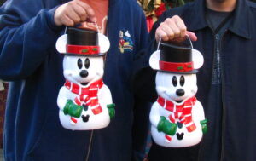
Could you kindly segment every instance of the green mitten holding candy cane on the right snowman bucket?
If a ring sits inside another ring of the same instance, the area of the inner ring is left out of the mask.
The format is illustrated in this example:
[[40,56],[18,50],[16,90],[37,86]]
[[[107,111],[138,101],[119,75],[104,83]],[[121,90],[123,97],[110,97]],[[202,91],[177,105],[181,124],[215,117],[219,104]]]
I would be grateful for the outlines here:
[[159,132],[164,132],[167,135],[175,135],[177,131],[177,124],[173,124],[169,122],[166,117],[161,116],[160,122],[157,125],[157,129]]

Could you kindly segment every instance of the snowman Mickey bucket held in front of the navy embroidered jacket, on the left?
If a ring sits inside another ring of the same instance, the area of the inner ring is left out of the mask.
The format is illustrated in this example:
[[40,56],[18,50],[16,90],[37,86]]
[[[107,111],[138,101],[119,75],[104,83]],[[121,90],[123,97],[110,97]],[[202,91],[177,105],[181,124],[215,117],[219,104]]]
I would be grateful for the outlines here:
[[67,33],[58,38],[56,49],[64,55],[66,83],[57,104],[64,128],[102,129],[114,117],[111,92],[102,82],[103,56],[109,46],[108,37],[89,29],[67,27]]

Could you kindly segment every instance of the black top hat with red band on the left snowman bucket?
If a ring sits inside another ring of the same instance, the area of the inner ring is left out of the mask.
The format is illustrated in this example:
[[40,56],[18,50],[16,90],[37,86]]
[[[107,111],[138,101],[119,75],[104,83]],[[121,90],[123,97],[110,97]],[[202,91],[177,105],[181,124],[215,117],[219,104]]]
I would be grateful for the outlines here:
[[98,32],[90,29],[67,27],[67,55],[101,56]]

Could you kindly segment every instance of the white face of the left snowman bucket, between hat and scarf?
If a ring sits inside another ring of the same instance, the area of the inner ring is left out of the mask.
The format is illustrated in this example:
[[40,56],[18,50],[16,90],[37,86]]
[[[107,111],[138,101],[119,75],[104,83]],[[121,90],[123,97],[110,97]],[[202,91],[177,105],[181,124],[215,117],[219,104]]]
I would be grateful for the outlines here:
[[90,85],[102,78],[104,73],[102,56],[73,56],[66,55],[63,60],[64,77],[82,86]]

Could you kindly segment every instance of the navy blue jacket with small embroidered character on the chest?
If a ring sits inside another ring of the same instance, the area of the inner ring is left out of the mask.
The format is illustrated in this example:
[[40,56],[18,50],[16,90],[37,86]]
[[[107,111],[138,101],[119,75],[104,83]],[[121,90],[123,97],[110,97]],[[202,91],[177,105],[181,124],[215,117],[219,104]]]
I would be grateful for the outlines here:
[[[65,80],[55,42],[64,27],[54,25],[60,0],[9,0],[0,8],[0,78],[9,83],[4,125],[6,161],[85,160],[90,131],[61,127],[56,99]],[[120,53],[119,31],[128,31],[132,51]],[[104,74],[116,104],[108,128],[95,130],[89,160],[131,160],[132,76],[148,37],[143,11],[133,0],[109,0]]]

